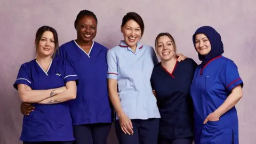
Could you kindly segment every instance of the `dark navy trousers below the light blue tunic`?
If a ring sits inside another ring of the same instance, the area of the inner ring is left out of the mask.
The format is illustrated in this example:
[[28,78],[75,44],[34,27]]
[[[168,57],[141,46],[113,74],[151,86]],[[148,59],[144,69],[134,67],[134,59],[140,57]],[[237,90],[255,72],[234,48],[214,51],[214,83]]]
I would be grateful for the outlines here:
[[115,130],[119,144],[157,144],[159,118],[131,119],[133,135],[125,134],[119,120],[115,120]]

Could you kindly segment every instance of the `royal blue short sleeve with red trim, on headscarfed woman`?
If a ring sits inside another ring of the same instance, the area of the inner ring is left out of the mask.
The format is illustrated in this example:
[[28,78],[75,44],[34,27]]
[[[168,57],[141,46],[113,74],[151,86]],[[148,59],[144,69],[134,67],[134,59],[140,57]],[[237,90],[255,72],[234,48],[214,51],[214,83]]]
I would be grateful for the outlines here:
[[239,76],[238,68],[233,61],[228,61],[223,66],[222,73],[220,74],[221,81],[228,91],[232,91],[234,87],[241,84],[243,87],[242,78]]

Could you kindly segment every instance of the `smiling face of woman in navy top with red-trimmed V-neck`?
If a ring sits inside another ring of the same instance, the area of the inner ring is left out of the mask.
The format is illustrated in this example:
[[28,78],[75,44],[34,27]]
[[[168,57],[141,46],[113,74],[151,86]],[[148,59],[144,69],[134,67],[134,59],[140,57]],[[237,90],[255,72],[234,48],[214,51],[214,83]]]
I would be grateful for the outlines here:
[[176,47],[169,36],[160,36],[156,41],[156,52],[161,58],[161,61],[167,61],[174,58]]

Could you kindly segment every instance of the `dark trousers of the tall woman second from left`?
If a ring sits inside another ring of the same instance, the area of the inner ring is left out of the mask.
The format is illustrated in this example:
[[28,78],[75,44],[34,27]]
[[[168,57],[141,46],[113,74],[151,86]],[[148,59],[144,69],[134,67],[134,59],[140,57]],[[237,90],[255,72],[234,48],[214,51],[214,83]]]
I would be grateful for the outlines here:
[[106,144],[111,123],[74,125],[74,144]]

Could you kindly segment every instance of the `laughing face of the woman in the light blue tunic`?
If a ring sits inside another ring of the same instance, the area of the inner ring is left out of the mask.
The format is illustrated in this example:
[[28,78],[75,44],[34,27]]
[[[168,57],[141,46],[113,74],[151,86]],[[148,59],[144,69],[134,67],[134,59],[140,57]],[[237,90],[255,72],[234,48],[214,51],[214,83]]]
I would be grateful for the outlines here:
[[131,48],[136,47],[141,38],[140,25],[131,19],[121,26],[121,31],[124,35],[124,42]]

